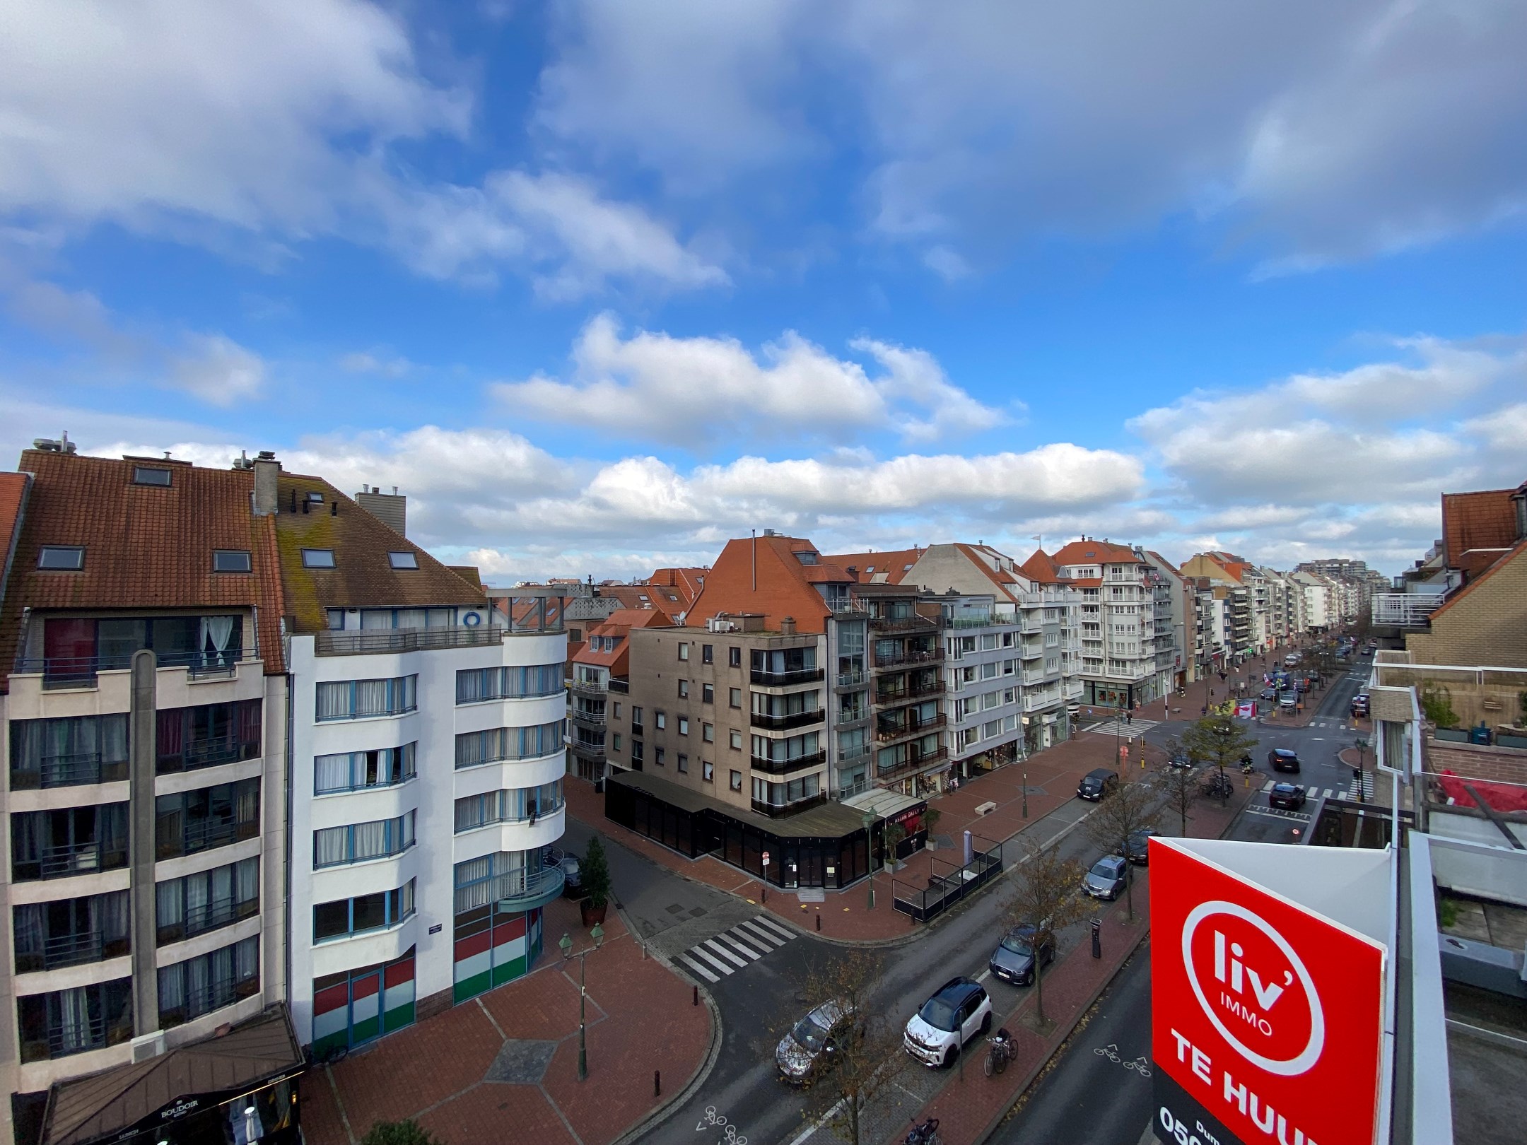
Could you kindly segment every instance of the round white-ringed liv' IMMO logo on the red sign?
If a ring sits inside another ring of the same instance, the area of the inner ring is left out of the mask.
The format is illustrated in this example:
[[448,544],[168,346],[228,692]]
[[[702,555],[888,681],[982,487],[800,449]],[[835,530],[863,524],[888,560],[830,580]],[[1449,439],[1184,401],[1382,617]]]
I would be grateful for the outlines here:
[[1182,927],[1182,962],[1203,1014],[1267,1073],[1309,1070],[1325,1018],[1309,969],[1266,919],[1235,902],[1200,902]]

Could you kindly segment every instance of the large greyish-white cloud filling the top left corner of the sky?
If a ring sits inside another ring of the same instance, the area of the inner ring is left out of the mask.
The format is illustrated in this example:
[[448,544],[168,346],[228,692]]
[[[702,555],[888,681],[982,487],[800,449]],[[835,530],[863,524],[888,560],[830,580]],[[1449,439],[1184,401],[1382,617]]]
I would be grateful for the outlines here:
[[0,35],[0,217],[111,221],[267,266],[333,235],[437,278],[533,272],[554,296],[725,282],[585,180],[405,174],[397,144],[463,139],[472,110],[423,75],[395,14],[359,0],[26,5]]

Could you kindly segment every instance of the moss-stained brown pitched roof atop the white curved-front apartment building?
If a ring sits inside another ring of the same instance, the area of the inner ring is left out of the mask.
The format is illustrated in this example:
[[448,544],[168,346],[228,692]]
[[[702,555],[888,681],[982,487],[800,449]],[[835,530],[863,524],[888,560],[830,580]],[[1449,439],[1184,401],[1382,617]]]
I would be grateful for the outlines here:
[[[281,473],[276,482],[276,543],[293,632],[328,627],[330,608],[486,606],[483,589],[394,533],[322,478]],[[321,501],[310,504],[308,495]],[[304,507],[308,511],[302,511]],[[337,511],[336,507],[337,505]],[[307,568],[304,548],[334,553],[334,568]],[[412,553],[418,568],[397,569],[389,553]]]

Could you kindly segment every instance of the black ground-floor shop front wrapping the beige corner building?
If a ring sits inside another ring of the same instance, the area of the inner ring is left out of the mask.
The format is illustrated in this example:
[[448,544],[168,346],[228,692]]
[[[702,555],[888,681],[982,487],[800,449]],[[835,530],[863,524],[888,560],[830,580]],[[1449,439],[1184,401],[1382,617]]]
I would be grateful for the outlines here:
[[[863,818],[840,803],[767,818],[644,771],[617,771],[605,780],[605,815],[686,858],[715,855],[782,890],[837,890],[869,873]],[[883,831],[873,823],[876,847]]]

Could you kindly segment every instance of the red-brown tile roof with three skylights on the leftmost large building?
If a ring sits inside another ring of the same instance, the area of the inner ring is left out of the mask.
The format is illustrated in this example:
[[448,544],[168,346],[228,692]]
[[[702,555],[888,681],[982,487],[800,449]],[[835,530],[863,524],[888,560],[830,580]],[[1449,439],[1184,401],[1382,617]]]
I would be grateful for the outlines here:
[[[171,484],[133,484],[134,464],[171,470]],[[15,663],[23,609],[257,608],[266,672],[284,670],[275,527],[250,510],[252,472],[37,449],[18,469],[32,485],[0,605],[0,679]],[[82,545],[84,568],[38,569],[43,545]],[[214,572],[212,550],[250,553],[252,574]]]

